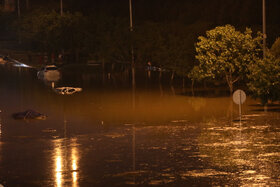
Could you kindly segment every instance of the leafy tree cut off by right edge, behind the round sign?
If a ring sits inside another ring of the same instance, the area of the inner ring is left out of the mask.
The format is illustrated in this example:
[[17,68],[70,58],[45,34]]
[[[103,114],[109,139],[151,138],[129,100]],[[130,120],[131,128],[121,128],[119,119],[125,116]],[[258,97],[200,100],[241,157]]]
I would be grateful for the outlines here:
[[266,58],[259,59],[248,66],[248,88],[252,96],[260,98],[262,104],[269,100],[280,100],[280,59],[267,53]]

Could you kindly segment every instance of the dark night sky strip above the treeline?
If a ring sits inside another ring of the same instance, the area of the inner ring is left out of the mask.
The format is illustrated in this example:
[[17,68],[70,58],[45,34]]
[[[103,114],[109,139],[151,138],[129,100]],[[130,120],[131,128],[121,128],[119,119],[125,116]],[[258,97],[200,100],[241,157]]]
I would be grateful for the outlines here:
[[[57,4],[58,0],[33,0]],[[127,17],[129,0],[64,0],[64,8],[84,14],[102,12]],[[132,0],[137,21],[207,21],[235,24],[261,24],[262,0]],[[32,0],[30,0],[32,4]],[[38,4],[37,4],[38,5]],[[279,24],[280,0],[266,0],[268,24]],[[40,5],[39,5],[40,6]]]

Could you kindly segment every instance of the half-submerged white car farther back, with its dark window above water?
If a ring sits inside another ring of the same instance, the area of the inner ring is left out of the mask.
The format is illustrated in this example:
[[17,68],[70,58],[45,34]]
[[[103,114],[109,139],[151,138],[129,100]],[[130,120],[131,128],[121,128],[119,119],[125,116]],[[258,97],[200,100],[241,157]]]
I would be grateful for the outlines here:
[[47,65],[37,72],[38,79],[55,82],[60,79],[60,72],[55,65]]

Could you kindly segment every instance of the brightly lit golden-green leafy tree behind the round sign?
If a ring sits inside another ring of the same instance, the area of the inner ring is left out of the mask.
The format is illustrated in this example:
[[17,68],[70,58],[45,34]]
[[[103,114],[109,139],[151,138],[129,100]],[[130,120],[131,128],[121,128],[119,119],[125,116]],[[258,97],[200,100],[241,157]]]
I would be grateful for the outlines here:
[[260,34],[253,38],[249,28],[242,33],[231,25],[207,31],[195,45],[199,62],[196,72],[200,74],[194,78],[225,78],[232,93],[234,83],[244,78],[247,65],[259,59],[261,39]]

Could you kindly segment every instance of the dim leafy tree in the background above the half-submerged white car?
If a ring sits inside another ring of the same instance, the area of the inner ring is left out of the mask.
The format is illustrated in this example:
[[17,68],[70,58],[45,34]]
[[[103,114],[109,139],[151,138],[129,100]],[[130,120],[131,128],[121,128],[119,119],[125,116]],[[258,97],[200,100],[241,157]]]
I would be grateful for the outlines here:
[[80,13],[65,12],[61,16],[55,11],[35,11],[24,17],[21,24],[25,41],[41,51],[58,52],[64,49],[77,53],[83,48],[85,21]]

